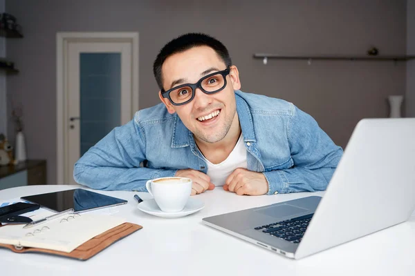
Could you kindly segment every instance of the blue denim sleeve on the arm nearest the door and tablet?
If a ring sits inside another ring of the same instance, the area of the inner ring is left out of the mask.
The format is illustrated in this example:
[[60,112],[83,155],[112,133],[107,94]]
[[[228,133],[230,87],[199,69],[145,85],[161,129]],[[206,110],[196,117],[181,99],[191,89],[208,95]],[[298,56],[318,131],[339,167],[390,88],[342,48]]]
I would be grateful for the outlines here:
[[136,121],[114,128],[75,163],[73,178],[97,190],[147,191],[148,179],[172,177],[177,170],[140,166],[145,161],[145,136]]

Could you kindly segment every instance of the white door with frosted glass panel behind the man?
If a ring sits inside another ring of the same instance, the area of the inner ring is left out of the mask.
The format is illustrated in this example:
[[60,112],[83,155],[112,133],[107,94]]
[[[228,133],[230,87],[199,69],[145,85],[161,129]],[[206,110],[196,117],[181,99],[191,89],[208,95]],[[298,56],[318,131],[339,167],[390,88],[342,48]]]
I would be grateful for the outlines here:
[[132,119],[132,45],[129,42],[68,43],[66,83],[66,173],[116,126]]

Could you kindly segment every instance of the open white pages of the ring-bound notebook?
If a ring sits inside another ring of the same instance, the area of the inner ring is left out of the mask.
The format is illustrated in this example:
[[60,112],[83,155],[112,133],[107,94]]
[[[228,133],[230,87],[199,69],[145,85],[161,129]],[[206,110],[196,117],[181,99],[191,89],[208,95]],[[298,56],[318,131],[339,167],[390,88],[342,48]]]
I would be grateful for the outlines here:
[[0,243],[16,249],[45,248],[70,253],[89,239],[124,224],[125,219],[109,215],[70,214],[33,226],[23,224],[0,227]]

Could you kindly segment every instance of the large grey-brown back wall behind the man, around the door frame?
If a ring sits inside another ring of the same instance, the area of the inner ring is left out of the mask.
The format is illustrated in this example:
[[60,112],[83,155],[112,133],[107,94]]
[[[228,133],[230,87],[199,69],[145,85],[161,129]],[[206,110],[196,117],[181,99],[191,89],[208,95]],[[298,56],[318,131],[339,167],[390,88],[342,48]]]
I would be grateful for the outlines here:
[[387,117],[388,95],[405,93],[405,62],[270,60],[281,55],[381,55],[406,50],[405,0],[6,0],[24,39],[7,42],[21,70],[8,94],[21,98],[28,157],[48,159],[56,179],[56,32],[140,33],[140,108],[158,103],[152,63],[160,47],[184,32],[208,32],[230,50],[242,90],[292,101],[345,146],[363,117]]

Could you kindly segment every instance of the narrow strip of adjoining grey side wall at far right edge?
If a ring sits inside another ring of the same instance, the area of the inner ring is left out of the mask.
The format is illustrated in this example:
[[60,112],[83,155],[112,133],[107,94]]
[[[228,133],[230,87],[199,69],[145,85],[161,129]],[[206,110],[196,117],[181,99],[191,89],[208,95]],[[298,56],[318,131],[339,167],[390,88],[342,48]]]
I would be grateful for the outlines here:
[[[415,0],[407,1],[407,55],[415,56]],[[415,117],[415,60],[407,62],[406,117]]]

